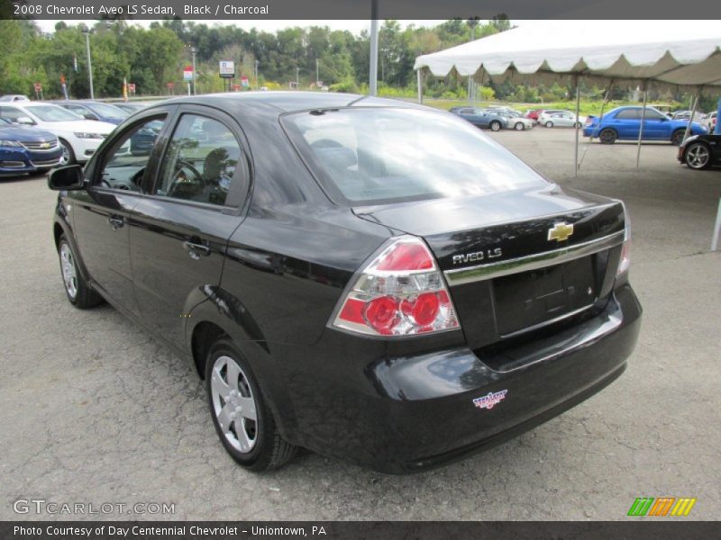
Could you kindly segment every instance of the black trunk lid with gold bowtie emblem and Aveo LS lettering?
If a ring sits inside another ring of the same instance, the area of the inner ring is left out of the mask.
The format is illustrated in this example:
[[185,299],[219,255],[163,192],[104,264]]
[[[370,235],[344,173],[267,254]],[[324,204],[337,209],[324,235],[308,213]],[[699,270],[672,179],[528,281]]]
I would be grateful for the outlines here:
[[625,234],[621,202],[558,186],[353,211],[424,238],[472,348],[605,305]]

